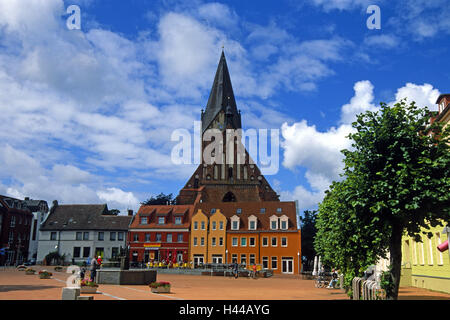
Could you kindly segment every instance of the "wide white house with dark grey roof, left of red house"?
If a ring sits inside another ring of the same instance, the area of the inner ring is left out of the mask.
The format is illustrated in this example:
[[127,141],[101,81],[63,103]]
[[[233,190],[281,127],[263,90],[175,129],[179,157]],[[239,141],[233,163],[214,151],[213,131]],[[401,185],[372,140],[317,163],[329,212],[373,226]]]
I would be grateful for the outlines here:
[[126,246],[130,214],[113,215],[106,204],[54,203],[40,229],[37,262],[51,252],[65,255],[66,262],[79,263],[98,256],[110,260]]

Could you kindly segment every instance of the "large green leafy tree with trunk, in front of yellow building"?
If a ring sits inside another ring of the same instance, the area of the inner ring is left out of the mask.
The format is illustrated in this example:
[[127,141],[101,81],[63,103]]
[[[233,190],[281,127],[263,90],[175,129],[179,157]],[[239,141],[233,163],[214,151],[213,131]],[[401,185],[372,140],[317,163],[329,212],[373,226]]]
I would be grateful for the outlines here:
[[358,115],[344,180],[319,205],[317,251],[352,275],[389,252],[388,299],[398,297],[403,234],[420,241],[421,228],[450,216],[449,132],[429,123],[427,108],[405,100]]

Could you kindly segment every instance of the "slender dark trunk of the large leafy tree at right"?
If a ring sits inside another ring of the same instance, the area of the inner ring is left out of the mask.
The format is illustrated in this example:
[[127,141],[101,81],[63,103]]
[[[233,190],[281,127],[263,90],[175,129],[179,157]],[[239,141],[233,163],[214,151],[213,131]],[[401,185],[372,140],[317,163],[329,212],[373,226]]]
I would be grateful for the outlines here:
[[394,223],[392,225],[392,235],[389,244],[391,276],[394,287],[391,294],[388,294],[386,297],[388,300],[397,300],[398,298],[402,268],[402,234],[403,228],[401,225]]

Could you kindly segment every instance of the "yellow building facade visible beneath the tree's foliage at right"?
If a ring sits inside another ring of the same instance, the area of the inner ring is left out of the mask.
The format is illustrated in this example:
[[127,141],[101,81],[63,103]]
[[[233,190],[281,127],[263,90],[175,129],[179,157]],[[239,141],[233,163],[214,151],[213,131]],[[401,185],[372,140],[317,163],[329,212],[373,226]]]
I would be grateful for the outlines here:
[[[445,225],[445,223],[444,223]],[[437,246],[447,240],[442,226],[431,228],[431,238],[422,235],[422,242],[403,237],[402,276],[400,286],[412,286],[450,293],[449,251],[440,252]]]

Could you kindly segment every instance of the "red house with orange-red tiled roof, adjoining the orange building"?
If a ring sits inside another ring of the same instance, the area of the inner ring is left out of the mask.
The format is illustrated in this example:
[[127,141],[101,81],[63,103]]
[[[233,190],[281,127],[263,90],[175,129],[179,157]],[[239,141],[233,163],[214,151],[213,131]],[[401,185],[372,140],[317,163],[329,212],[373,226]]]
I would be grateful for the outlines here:
[[144,205],[128,232],[130,261],[189,260],[189,227],[194,206]]

